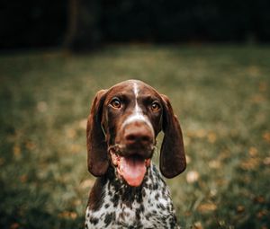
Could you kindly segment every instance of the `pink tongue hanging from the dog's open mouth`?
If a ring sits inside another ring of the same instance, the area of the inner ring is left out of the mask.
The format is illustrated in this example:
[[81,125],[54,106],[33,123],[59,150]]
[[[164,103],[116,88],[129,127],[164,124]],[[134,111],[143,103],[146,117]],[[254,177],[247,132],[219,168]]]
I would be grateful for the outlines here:
[[121,175],[130,186],[137,187],[143,181],[146,165],[143,159],[133,157],[121,157]]

